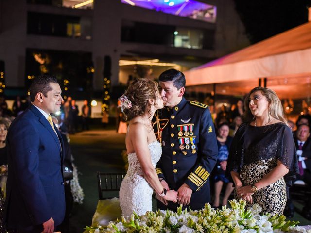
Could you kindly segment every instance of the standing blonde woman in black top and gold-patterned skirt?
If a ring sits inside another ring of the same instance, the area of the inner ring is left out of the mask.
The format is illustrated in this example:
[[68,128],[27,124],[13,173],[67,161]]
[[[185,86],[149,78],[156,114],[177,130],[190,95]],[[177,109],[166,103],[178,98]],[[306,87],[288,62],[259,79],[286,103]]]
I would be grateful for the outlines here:
[[286,185],[299,173],[292,131],[273,90],[254,88],[245,107],[245,123],[234,136],[226,172],[232,176],[236,198],[258,203],[264,213],[283,214]]

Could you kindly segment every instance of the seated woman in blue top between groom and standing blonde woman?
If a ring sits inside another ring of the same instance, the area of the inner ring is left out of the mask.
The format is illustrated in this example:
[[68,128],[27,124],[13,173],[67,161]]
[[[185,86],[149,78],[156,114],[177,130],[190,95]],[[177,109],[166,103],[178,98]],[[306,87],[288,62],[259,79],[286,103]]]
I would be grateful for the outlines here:
[[214,182],[215,182],[215,191],[214,191],[214,203],[215,208],[219,207],[220,202],[220,193],[223,188],[223,184],[227,183],[225,188],[225,194],[223,197],[222,205],[226,205],[228,198],[232,191],[234,190],[232,182],[225,177],[225,168],[227,166],[227,159],[229,155],[229,148],[231,145],[232,137],[229,135],[229,125],[228,123],[222,123],[219,125],[217,132],[217,146],[218,146],[218,157],[217,163],[214,168]]

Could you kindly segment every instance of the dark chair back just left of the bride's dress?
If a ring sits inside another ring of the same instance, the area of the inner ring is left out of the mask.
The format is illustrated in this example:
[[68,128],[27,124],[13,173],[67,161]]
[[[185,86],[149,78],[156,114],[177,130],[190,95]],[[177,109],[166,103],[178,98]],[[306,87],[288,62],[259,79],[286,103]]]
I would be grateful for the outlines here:
[[97,172],[99,200],[119,197],[119,190],[124,176],[124,173]]

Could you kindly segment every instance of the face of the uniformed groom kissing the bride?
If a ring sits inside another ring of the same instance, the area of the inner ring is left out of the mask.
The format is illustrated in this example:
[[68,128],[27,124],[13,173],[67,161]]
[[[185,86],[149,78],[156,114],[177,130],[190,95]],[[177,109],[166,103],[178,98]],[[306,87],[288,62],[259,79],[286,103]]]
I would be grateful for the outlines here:
[[177,88],[174,87],[173,81],[159,82],[159,91],[163,99],[164,106],[173,108],[180,102],[183,95],[180,89],[177,90]]

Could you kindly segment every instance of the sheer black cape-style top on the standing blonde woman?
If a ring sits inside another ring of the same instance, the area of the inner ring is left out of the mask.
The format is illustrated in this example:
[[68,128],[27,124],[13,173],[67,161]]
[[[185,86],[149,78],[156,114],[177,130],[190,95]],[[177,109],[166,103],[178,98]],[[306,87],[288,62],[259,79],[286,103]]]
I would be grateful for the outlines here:
[[226,175],[240,172],[244,164],[277,158],[288,169],[286,183],[299,174],[296,148],[291,129],[284,123],[255,127],[242,124],[235,134],[228,157]]

